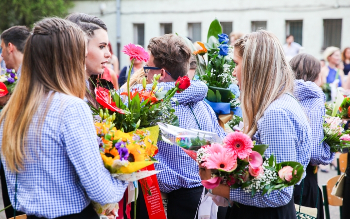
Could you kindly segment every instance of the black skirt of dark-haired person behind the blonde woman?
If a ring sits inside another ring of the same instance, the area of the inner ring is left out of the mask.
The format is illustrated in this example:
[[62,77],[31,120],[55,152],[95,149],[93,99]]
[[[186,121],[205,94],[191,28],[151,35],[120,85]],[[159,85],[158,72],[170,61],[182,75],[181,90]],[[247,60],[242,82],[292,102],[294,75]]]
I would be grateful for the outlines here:
[[[314,173],[315,166],[309,164],[306,167],[306,177],[304,178],[304,188],[301,199],[301,206],[317,208],[317,219],[323,219],[322,192],[317,184],[317,177]],[[295,185],[294,203],[300,204],[302,183]],[[298,210],[298,209],[297,209]]]

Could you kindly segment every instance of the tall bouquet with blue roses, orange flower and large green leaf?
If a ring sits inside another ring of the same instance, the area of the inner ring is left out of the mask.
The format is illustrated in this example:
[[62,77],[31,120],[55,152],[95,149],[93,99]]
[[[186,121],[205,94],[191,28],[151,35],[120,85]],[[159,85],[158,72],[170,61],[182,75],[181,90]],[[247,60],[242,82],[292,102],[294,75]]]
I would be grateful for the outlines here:
[[[186,41],[188,45],[192,44],[189,40]],[[233,46],[227,45],[228,41],[228,36],[222,33],[219,20],[214,19],[210,24],[207,42],[197,42],[202,49],[196,50],[193,44],[190,46],[199,63],[197,75],[209,87],[205,101],[218,114],[219,124],[223,128],[225,124],[233,128],[242,121],[238,108],[240,103],[237,101],[240,90],[232,76],[235,67]],[[202,61],[206,54],[208,63]]]

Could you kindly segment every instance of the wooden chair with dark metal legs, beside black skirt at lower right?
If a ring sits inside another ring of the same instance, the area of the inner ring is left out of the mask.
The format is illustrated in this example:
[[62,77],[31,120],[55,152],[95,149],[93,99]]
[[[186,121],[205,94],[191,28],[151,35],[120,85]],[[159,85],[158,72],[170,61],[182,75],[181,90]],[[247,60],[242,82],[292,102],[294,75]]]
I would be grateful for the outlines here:
[[340,176],[332,177],[327,181],[326,185],[322,185],[323,189],[323,205],[325,206],[325,216],[326,219],[330,219],[330,212],[329,212],[329,205],[332,206],[339,206],[340,210],[340,218],[342,215],[342,206],[343,206],[343,199],[331,195],[332,189],[335,185],[335,183],[338,181]]

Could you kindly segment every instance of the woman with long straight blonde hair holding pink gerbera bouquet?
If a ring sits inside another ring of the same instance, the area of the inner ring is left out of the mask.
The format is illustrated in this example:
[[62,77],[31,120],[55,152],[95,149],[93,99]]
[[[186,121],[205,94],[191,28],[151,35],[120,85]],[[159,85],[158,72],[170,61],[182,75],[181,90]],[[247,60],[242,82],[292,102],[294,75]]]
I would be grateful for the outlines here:
[[[257,31],[235,43],[233,75],[241,89],[244,132],[257,144],[269,147],[277,162],[297,161],[304,168],[310,161],[311,128],[303,109],[293,96],[294,73],[286,61],[279,39],[270,32]],[[200,168],[202,180],[211,171]],[[305,174],[304,174],[305,176]],[[254,197],[243,189],[219,185],[214,195],[238,203],[227,212],[229,219],[295,219],[293,186],[270,195],[257,192]]]

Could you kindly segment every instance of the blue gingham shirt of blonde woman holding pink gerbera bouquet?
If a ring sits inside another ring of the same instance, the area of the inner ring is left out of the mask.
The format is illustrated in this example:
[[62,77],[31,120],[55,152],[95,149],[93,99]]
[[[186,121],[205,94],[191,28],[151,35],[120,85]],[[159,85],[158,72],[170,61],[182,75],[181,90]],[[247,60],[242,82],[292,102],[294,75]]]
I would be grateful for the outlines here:
[[[297,100],[283,94],[272,102],[258,121],[258,130],[253,136],[257,144],[269,147],[265,156],[272,153],[277,163],[297,161],[304,166],[309,164],[311,156],[312,135],[307,117]],[[304,172],[303,178],[306,173]],[[230,189],[230,200],[257,207],[279,207],[286,205],[293,196],[293,186],[275,190],[270,195],[261,195],[262,191],[251,198],[243,189]]]

